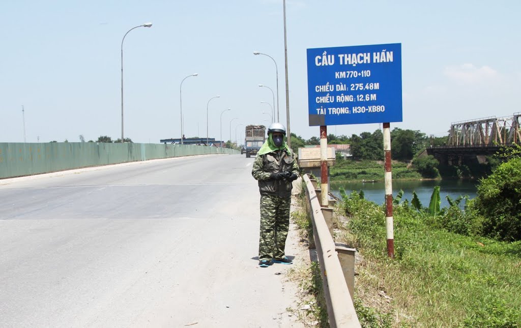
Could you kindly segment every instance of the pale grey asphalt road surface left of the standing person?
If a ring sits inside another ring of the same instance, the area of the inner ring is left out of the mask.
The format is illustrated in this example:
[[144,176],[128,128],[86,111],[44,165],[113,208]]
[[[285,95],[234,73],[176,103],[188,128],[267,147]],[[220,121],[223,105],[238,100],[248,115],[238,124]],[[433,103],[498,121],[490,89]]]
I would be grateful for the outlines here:
[[285,311],[294,287],[275,274],[289,266],[257,266],[252,162],[0,180],[0,326],[299,327]]

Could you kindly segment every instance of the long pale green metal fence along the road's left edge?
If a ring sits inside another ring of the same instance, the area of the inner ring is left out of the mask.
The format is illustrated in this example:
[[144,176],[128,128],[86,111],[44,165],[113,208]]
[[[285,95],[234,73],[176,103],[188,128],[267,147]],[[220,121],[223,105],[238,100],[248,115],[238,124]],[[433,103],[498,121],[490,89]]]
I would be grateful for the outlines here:
[[113,143],[0,143],[0,179],[92,166],[237,150],[195,145]]

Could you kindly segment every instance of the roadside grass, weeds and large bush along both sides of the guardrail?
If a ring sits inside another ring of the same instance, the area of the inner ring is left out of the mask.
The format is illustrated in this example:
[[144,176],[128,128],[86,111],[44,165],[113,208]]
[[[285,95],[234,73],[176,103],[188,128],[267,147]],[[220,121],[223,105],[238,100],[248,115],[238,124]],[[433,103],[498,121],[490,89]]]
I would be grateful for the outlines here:
[[[429,204],[397,195],[394,259],[383,206],[342,193],[334,238],[358,250],[354,303],[362,326],[521,327],[521,148],[503,157],[473,200],[449,198],[440,208],[439,187]],[[304,235],[306,213],[292,215]],[[321,285],[308,272],[310,312],[326,327]]]

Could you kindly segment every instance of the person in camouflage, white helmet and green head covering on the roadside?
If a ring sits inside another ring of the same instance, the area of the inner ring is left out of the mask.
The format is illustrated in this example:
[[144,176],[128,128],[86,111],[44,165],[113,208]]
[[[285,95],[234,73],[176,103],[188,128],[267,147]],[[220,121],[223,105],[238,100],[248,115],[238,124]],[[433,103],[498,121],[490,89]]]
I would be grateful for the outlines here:
[[290,223],[292,182],[299,177],[299,166],[286,143],[286,128],[272,123],[268,138],[253,162],[252,175],[261,192],[261,236],[259,266],[293,263],[284,255]]

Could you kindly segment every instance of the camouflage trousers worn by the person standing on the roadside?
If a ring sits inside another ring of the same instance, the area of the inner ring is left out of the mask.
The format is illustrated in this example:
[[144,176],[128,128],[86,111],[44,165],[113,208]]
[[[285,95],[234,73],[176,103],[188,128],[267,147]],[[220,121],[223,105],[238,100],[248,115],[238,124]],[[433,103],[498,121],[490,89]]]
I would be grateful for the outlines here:
[[284,257],[290,225],[291,196],[261,195],[259,260]]

